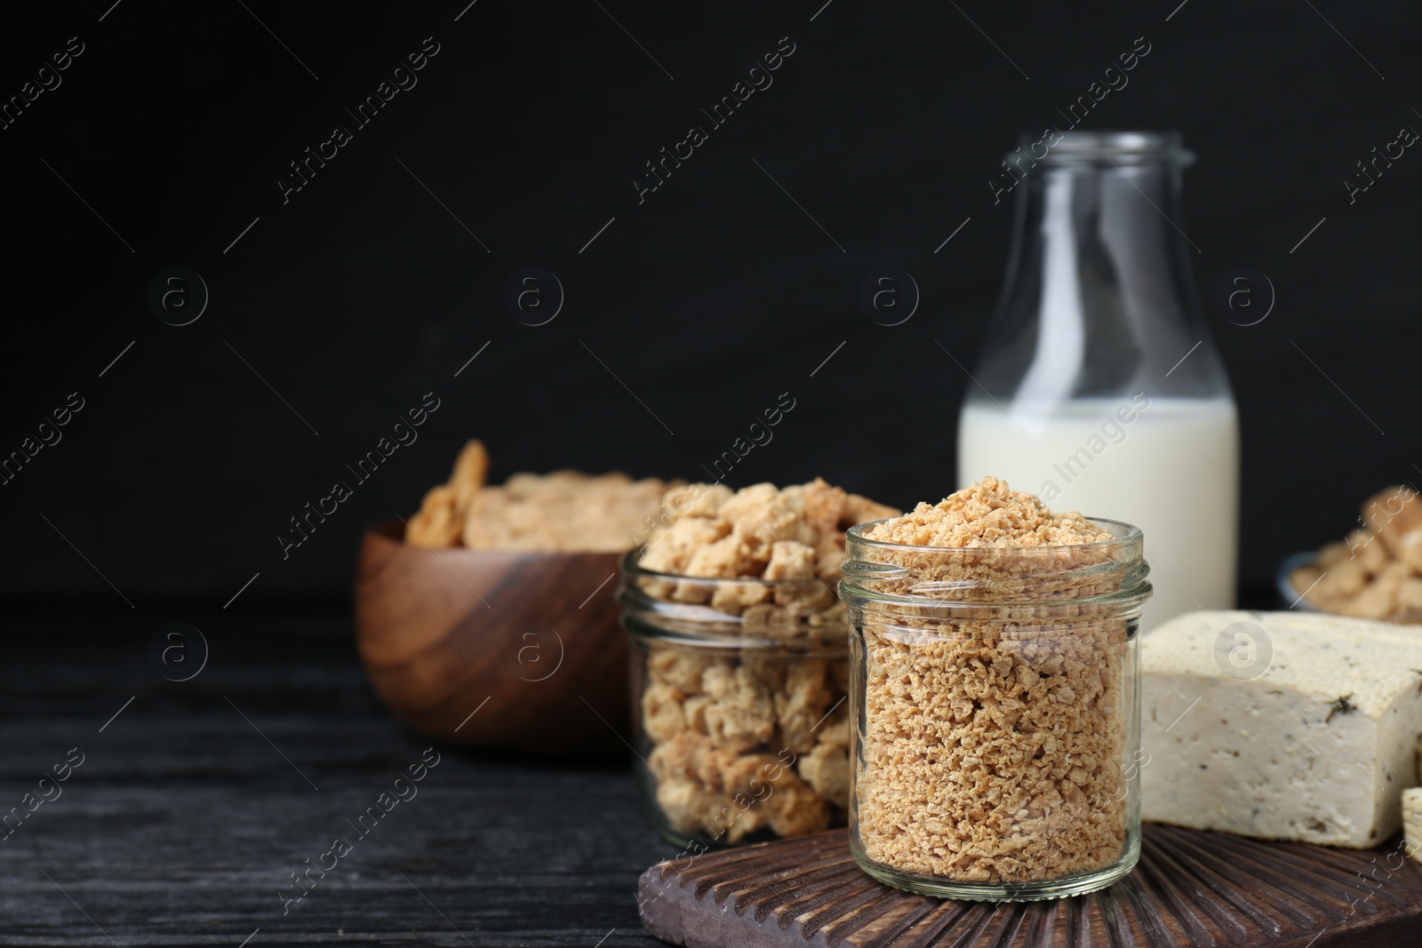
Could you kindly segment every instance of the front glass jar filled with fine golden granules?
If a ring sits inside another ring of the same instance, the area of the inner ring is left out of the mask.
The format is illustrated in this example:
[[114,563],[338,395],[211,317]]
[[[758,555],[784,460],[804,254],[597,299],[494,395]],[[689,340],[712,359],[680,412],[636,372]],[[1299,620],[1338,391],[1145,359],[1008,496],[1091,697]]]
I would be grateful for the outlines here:
[[849,532],[849,840],[875,878],[991,901],[1103,888],[1140,854],[1140,530],[1048,547]]

